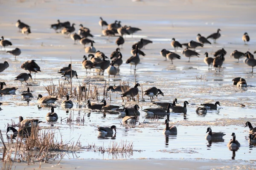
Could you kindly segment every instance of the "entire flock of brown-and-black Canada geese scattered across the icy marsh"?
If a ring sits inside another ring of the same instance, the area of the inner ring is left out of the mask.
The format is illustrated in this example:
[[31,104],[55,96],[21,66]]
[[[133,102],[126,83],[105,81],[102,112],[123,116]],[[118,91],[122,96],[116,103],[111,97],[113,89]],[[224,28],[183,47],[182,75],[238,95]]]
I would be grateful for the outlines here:
[[[118,73],[119,67],[123,63],[122,54],[120,52],[119,46],[121,45],[122,47],[122,45],[125,43],[125,38],[124,38],[125,35],[133,36],[133,34],[135,34],[137,31],[141,31],[141,29],[136,27],[131,27],[131,26],[122,26],[121,21],[117,21],[117,20],[114,23],[108,24],[105,20],[102,19],[102,17],[100,17],[99,26],[102,27],[102,34],[104,36],[111,37],[111,36],[115,36],[116,34],[119,34],[119,37],[116,39],[116,45],[118,45],[118,47],[116,48],[115,51],[112,52],[110,56],[110,59],[112,59],[112,61],[110,61],[110,60],[107,60],[108,57],[105,56],[105,54],[102,51],[99,51],[99,50],[96,51],[96,48],[93,46],[93,43],[95,42],[88,38],[88,37],[92,37],[92,38],[94,37],[91,34],[90,29],[80,24],[78,33],[73,33],[74,31],[76,31],[76,28],[74,27],[75,25],[76,25],[75,23],[71,25],[69,21],[61,23],[60,20],[58,20],[57,23],[50,25],[50,28],[54,29],[56,33],[61,32],[61,34],[69,35],[70,38],[74,41],[74,44],[76,44],[76,42],[79,41],[81,45],[84,45],[85,53],[90,53],[88,55],[88,58],[87,56],[84,55],[83,56],[84,60],[81,62],[82,67],[86,69],[86,73],[88,69],[89,70],[98,69],[99,75],[101,73],[102,75],[104,75],[105,70],[107,70],[108,76],[110,77],[110,75],[113,75],[115,79],[115,76]],[[25,34],[27,37],[29,34],[31,34],[31,31],[30,31],[31,27],[21,22],[20,20],[17,21],[16,27],[19,28],[19,30],[21,30],[21,33]],[[190,61],[190,57],[195,57],[195,56],[199,57],[200,55],[195,51],[196,48],[204,47],[204,44],[206,43],[211,44],[209,39],[213,39],[213,42],[216,43],[216,40],[221,37],[220,31],[221,30],[218,29],[217,32],[210,34],[208,37],[203,37],[201,36],[201,34],[198,34],[196,37],[196,40],[198,42],[191,40],[188,43],[181,44],[180,42],[176,41],[175,38],[172,38],[171,46],[174,48],[175,52],[177,51],[177,48],[183,48],[185,46],[186,48],[182,51],[182,54],[185,57],[189,57],[189,61]],[[244,43],[247,43],[250,41],[250,38],[247,33],[244,33],[244,35],[242,36],[242,40],[244,41]],[[153,43],[153,42],[151,40],[141,39],[139,42],[132,45],[132,49],[131,49],[132,56],[128,58],[125,63],[130,64],[131,67],[132,65],[134,65],[135,66],[134,71],[136,70],[136,66],[140,63],[140,55],[142,56],[146,55],[142,51],[142,49],[145,48],[145,45],[148,45],[149,43]],[[90,44],[90,46],[86,47],[87,44]],[[9,46],[9,45],[12,45],[12,42],[10,42],[9,40],[5,40],[4,37],[2,36],[2,40],[0,41],[1,48],[2,47],[5,48],[6,46]],[[160,54],[166,59],[171,60],[173,63],[174,59],[181,58],[180,55],[175,52],[163,49],[162,51],[160,51]],[[12,54],[13,56],[15,56],[15,59],[16,59],[16,57],[21,54],[21,50],[19,48],[15,48],[14,50],[7,51],[7,53]],[[256,53],[256,51],[254,53]],[[211,70],[213,66],[215,67],[215,71],[217,71],[216,68],[219,68],[219,71],[220,71],[220,68],[225,60],[224,56],[227,54],[227,51],[225,51],[224,48],[216,51],[213,54],[215,58],[209,57],[208,52],[205,52],[204,54],[205,54],[204,62],[208,65],[208,69]],[[238,62],[239,62],[239,59],[241,59],[242,57],[246,57],[244,59],[244,63],[252,67],[252,72],[253,72],[253,67],[256,65],[256,59],[254,59],[253,54],[251,54],[249,51],[244,53],[244,52],[235,50],[230,54],[230,56],[235,59],[238,59]],[[9,67],[9,63],[7,61],[0,63],[0,72],[3,72],[8,67]],[[24,62],[21,65],[21,68],[29,71],[29,73],[21,73],[17,77],[15,77],[15,80],[20,81],[21,84],[23,84],[23,82],[26,82],[28,84],[27,81],[29,80],[29,78],[32,79],[32,75],[31,75],[32,72],[34,73],[41,72],[40,67],[35,62],[35,60]],[[61,74],[61,77],[64,77],[65,79],[67,79],[67,81],[69,81],[75,76],[78,79],[77,72],[72,70],[71,64],[68,65],[67,67],[61,68],[58,71],[58,73]],[[1,94],[12,94],[17,90],[17,88],[15,87],[3,88],[4,85],[6,85],[5,82],[0,82]],[[237,87],[247,87],[247,83],[245,79],[241,77],[236,77],[235,79],[233,79],[233,85],[236,85]],[[118,93],[118,92],[122,92],[123,88],[127,88],[128,90],[120,94],[120,96],[130,98],[135,101],[134,96],[137,96],[137,94],[139,93],[139,89],[138,89],[139,86],[140,86],[139,83],[137,83],[132,88],[122,87],[121,85],[109,86],[108,91]],[[143,111],[150,116],[156,116],[156,115],[167,116],[167,118],[165,119],[166,128],[163,130],[163,133],[166,135],[177,135],[177,127],[175,126],[169,127],[169,116],[172,115],[172,113],[186,114],[187,112],[186,105],[188,105],[189,102],[184,101],[183,106],[176,105],[177,99],[174,99],[172,103],[154,102],[153,101],[154,96],[157,97],[159,94],[162,96],[164,95],[163,92],[156,87],[148,88],[146,91],[143,91],[143,93],[145,93],[145,95],[150,97],[151,102],[153,102],[154,105],[158,106],[158,108],[147,108],[147,109],[144,109]],[[23,92],[21,94],[21,97],[23,99],[28,99],[28,98],[32,98],[33,95],[30,92],[29,88],[27,88],[27,91]],[[37,99],[38,99],[38,103],[42,103],[42,104],[54,103],[56,100],[58,100],[57,97],[42,96],[41,94],[38,94]],[[2,103],[0,103],[0,105],[1,104]],[[107,105],[105,99],[103,99],[100,104],[91,103],[90,100],[88,100],[87,105],[88,105],[88,108],[91,110],[102,110],[104,112],[118,111],[119,114],[123,116],[122,122],[127,124],[135,124],[137,117],[140,115],[139,105],[134,105],[133,108],[122,108],[122,106]],[[196,112],[205,114],[207,113],[207,110],[216,110],[217,105],[220,105],[220,102],[215,102],[215,104],[204,103],[201,105],[202,105],[201,107],[198,107],[196,109]],[[61,107],[71,108],[72,106],[73,106],[73,102],[70,100],[69,95],[67,95],[66,100],[61,102]],[[58,121],[58,115],[57,113],[54,112],[54,107],[51,107],[50,112],[47,113],[46,121],[47,122]],[[38,125],[40,122],[42,121],[38,119],[23,119],[22,116],[20,116],[19,130],[16,130],[14,127],[8,127],[7,133],[9,131],[12,131],[14,135],[29,136],[29,132],[31,132],[31,125],[32,124]],[[249,135],[250,142],[256,142],[256,127],[253,128],[250,122],[246,122],[246,126],[248,126],[250,129],[250,135]],[[98,128],[99,133],[108,134],[108,135],[109,134],[112,135],[113,130],[116,133],[115,125],[111,127]],[[221,133],[221,132],[220,133],[212,132],[210,127],[207,128],[207,133],[208,134],[206,136],[206,139],[208,141],[213,141],[215,139],[216,140],[222,139],[222,137],[225,135],[224,133]],[[240,147],[239,142],[236,140],[235,133],[232,133],[232,136],[233,138],[228,142],[227,146]]]

